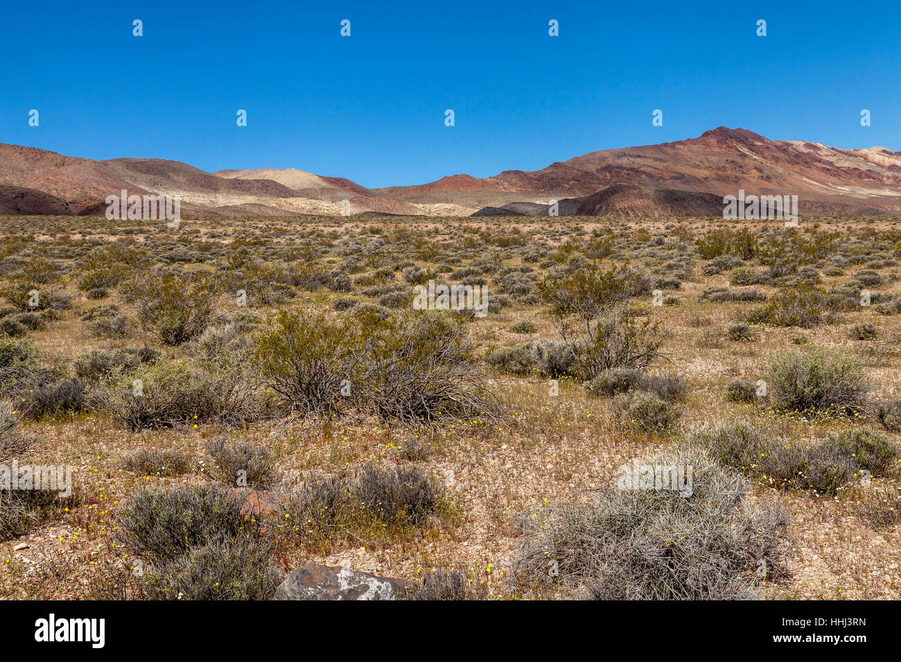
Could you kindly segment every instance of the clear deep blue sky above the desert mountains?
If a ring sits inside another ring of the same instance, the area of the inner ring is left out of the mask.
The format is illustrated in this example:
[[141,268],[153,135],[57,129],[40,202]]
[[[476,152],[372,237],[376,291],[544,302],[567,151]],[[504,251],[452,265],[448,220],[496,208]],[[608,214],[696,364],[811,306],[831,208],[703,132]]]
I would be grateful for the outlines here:
[[897,2],[194,5],[7,0],[0,142],[363,186],[544,168],[720,125],[901,150]]

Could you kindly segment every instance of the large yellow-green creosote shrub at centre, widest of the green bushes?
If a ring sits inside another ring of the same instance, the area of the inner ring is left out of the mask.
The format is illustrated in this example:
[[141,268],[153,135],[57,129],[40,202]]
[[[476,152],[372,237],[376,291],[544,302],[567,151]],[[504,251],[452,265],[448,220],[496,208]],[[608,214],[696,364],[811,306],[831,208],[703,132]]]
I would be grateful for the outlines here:
[[342,407],[429,422],[491,413],[465,328],[441,313],[337,322],[279,313],[259,339],[271,388],[302,413]]

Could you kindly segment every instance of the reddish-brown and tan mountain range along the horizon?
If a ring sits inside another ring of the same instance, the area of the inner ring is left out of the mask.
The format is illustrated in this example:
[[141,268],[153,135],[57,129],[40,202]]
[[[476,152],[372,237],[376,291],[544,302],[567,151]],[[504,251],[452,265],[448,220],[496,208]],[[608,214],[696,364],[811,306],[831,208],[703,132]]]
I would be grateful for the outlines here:
[[718,215],[723,196],[739,189],[797,195],[801,213],[901,213],[901,152],[770,141],[720,127],[541,170],[369,189],[296,168],[207,173],[165,159],[95,161],[0,144],[0,213],[102,213],[105,196],[123,188],[179,195],[183,210],[206,215],[337,214],[344,200],[355,214],[546,215],[558,200],[561,215]]

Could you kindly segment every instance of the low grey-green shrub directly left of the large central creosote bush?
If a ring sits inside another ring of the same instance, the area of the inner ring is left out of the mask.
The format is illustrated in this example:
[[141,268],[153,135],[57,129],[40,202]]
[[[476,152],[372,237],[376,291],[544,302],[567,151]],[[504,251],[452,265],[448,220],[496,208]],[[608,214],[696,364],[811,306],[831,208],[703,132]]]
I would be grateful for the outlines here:
[[89,398],[91,409],[111,414],[128,430],[246,422],[263,413],[256,385],[241,375],[207,370],[187,359],[157,362],[141,373],[140,380],[132,376],[105,380]]

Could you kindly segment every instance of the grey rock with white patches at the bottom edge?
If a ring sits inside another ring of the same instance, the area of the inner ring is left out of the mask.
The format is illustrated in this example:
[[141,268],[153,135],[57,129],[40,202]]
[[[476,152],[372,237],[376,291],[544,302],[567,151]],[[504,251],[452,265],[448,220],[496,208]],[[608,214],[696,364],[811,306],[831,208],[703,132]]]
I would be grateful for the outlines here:
[[274,600],[392,600],[410,583],[349,567],[307,563],[292,571],[276,589]]

